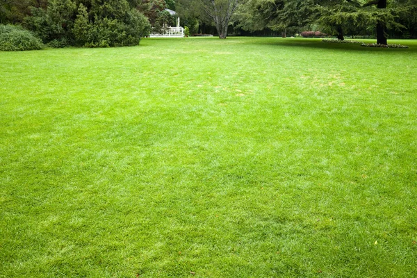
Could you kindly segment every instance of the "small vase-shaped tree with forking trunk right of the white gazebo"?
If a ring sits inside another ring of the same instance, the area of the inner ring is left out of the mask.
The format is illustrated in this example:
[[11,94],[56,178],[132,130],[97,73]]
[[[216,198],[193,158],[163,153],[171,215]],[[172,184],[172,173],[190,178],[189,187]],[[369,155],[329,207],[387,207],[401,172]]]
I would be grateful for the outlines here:
[[227,28],[241,0],[201,0],[204,11],[218,31],[220,39],[227,38]]

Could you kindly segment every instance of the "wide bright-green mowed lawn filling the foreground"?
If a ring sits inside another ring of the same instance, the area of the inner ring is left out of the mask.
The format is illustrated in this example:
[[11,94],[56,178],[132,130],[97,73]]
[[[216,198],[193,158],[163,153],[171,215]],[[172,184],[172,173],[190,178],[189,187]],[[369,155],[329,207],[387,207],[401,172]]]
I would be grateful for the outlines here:
[[417,277],[398,42],[1,52],[0,277]]

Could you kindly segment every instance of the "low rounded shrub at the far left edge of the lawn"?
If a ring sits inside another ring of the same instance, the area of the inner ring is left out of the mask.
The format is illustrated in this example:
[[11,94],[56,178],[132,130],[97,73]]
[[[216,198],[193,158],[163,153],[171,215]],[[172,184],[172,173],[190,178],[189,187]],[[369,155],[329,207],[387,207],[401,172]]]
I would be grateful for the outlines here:
[[42,49],[42,40],[21,26],[0,24],[0,50],[23,51]]

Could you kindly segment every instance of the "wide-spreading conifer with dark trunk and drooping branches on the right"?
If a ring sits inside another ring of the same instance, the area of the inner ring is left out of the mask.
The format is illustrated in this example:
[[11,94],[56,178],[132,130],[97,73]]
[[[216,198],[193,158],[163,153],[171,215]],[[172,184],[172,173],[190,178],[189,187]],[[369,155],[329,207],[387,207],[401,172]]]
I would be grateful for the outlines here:
[[345,31],[357,33],[376,26],[379,44],[387,43],[387,29],[404,28],[400,18],[412,15],[417,6],[416,0],[250,0],[249,3],[242,12],[249,19],[243,24],[245,28],[285,29],[318,24],[343,40]]

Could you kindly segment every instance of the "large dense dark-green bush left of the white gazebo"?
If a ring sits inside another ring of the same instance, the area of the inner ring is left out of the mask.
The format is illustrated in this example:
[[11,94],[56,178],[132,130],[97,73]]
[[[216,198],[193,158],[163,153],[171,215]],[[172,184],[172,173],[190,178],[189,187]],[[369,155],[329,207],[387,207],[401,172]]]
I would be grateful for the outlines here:
[[137,45],[149,33],[147,18],[126,0],[52,0],[47,9],[33,8],[26,24],[51,47]]

